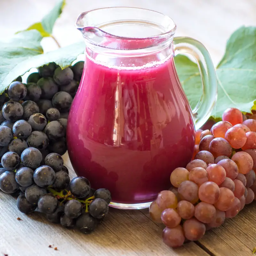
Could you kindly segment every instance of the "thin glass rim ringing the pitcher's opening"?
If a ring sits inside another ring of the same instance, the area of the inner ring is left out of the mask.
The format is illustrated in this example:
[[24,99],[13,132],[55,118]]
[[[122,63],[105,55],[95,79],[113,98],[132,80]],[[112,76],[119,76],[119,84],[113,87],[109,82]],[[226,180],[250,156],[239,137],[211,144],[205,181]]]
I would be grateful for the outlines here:
[[87,28],[87,27],[91,27],[91,26],[79,26],[78,25],[78,21],[80,19],[83,19],[86,14],[90,13],[90,12],[93,12],[93,11],[97,11],[97,10],[104,10],[104,9],[117,9],[117,8],[120,8],[120,9],[138,9],[138,10],[143,10],[143,11],[150,11],[150,12],[155,12],[155,13],[158,13],[158,14],[161,14],[163,15],[164,17],[167,17],[173,24],[172,28],[169,29],[168,31],[162,33],[162,34],[159,34],[159,35],[155,35],[155,36],[145,36],[145,37],[125,37],[125,36],[117,36],[117,35],[114,35],[114,34],[111,34],[111,33],[108,33],[106,31],[104,31],[103,29],[100,29],[98,28],[97,26],[95,26],[97,29],[99,29],[100,31],[104,32],[105,36],[109,36],[109,37],[112,37],[112,38],[117,38],[117,39],[127,39],[127,40],[145,40],[145,39],[155,39],[155,38],[162,38],[162,37],[166,37],[166,36],[173,36],[175,31],[176,31],[176,23],[175,21],[169,17],[168,15],[162,13],[162,12],[157,12],[157,11],[154,11],[154,10],[150,10],[150,9],[146,9],[146,8],[139,8],[139,7],[129,7],[129,6],[115,6],[115,7],[103,7],[103,8],[96,8],[96,9],[92,9],[90,11],[87,11],[87,12],[82,12],[78,15],[77,19],[76,19],[76,23],[75,23],[75,27],[78,29],[78,30],[82,30],[83,28]]

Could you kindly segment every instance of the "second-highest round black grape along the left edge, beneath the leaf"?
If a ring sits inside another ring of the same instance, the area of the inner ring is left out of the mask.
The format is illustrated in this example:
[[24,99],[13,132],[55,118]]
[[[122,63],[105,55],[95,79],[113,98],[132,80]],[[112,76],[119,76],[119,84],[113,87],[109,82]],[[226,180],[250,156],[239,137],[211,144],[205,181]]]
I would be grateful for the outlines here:
[[7,101],[3,106],[3,116],[6,120],[17,121],[20,120],[23,115],[23,108],[17,101]]

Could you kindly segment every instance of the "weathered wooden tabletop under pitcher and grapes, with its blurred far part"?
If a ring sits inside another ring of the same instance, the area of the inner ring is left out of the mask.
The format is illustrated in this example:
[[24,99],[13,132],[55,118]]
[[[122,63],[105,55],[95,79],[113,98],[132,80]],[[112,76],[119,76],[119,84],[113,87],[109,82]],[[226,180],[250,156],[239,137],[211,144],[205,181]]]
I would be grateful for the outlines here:
[[[0,38],[10,36],[41,19],[55,0],[1,0]],[[61,46],[82,39],[74,28],[80,12],[106,6],[135,6],[170,15],[177,23],[177,35],[195,37],[205,44],[218,63],[229,35],[242,25],[256,25],[255,0],[67,0],[56,22],[54,35]],[[44,49],[56,45],[43,40]],[[71,172],[72,166],[65,155]],[[17,220],[20,217],[22,220]],[[106,220],[90,235],[48,222],[39,213],[25,215],[15,199],[0,193],[0,255],[252,255],[256,246],[256,204],[245,206],[234,219],[207,231],[197,242],[173,250],[162,243],[163,226],[150,220],[148,210],[110,209]],[[48,245],[54,244],[55,251]]]

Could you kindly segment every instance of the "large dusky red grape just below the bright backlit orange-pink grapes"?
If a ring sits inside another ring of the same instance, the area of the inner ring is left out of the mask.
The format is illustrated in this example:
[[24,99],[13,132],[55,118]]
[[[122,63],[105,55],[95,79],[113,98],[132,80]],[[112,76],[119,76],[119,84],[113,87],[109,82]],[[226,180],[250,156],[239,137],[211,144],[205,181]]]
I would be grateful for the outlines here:
[[210,152],[216,158],[218,156],[231,156],[232,147],[227,140],[223,138],[215,138],[210,143]]

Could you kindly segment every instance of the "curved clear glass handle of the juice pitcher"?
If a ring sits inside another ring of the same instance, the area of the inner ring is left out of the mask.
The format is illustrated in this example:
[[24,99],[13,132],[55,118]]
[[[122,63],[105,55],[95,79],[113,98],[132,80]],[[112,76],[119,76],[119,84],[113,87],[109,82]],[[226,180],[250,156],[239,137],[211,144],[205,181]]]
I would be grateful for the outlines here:
[[215,68],[209,52],[199,41],[186,37],[174,37],[174,54],[187,53],[196,59],[199,68],[203,94],[196,107],[192,110],[195,120],[196,130],[199,129],[211,116],[212,109],[217,100],[218,86]]

